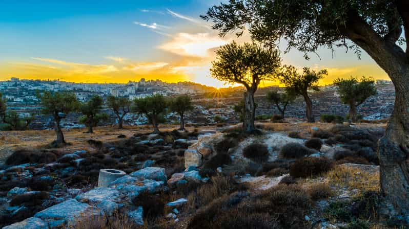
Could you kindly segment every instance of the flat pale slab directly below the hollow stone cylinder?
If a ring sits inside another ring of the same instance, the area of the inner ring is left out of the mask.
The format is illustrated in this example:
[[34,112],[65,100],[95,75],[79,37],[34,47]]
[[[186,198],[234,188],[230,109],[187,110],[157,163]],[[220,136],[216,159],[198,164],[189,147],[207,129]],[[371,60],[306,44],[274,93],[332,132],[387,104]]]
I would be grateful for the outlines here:
[[104,200],[115,202],[119,198],[119,191],[111,188],[95,188],[75,197],[77,201],[86,203],[100,203]]

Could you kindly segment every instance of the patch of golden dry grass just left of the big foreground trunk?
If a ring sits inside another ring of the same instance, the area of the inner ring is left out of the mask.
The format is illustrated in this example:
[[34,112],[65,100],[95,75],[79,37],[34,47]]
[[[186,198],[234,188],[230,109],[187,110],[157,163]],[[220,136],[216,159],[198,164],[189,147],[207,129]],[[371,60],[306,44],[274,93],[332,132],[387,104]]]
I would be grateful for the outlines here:
[[361,168],[364,167],[351,167],[349,164],[338,165],[325,176],[329,184],[337,188],[379,191],[379,171],[367,171]]

